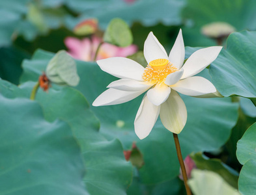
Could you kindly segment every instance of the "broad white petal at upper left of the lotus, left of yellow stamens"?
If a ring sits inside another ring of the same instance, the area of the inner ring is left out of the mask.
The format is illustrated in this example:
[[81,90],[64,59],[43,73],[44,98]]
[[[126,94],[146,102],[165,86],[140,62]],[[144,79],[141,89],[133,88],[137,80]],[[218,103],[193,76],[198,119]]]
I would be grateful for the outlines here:
[[112,57],[97,60],[98,66],[104,71],[121,79],[135,79],[142,81],[144,67],[131,59],[124,57]]

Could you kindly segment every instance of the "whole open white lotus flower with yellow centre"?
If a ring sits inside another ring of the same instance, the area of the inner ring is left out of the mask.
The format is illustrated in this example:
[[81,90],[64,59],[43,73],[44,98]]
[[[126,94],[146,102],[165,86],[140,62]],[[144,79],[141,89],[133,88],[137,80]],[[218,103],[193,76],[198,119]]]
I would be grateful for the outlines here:
[[164,47],[150,32],[144,44],[144,56],[149,63],[147,68],[124,57],[97,61],[104,72],[119,77],[120,80],[110,83],[107,86],[109,89],[98,96],[92,105],[124,103],[148,90],[135,117],[136,135],[140,139],[148,136],[159,114],[165,128],[178,134],[186,124],[187,110],[177,92],[187,96],[216,92],[210,81],[193,75],[212,63],[221,48],[214,46],[199,49],[183,65],[185,49],[181,29],[169,57]]

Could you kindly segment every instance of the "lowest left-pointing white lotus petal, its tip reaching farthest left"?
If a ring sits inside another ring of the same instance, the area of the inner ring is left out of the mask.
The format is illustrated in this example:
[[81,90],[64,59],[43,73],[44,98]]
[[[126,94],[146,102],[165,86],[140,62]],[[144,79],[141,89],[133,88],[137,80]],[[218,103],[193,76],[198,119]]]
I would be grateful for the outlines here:
[[146,90],[140,90],[137,92],[125,92],[121,90],[116,90],[114,88],[109,88],[98,98],[94,100],[92,105],[94,107],[102,106],[102,105],[115,105],[115,104],[120,104],[124,103],[126,101],[130,101],[134,98],[137,98],[137,96],[143,94]]

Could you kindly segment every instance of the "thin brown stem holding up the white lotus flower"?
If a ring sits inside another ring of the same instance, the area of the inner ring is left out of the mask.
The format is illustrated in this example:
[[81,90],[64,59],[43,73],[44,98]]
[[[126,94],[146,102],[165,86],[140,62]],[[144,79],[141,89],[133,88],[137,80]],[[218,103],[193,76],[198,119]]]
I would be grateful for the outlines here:
[[180,142],[178,142],[178,135],[176,133],[173,133],[173,138],[175,142],[175,147],[177,151],[178,156],[178,162],[180,162],[180,168],[183,176],[184,185],[186,188],[187,195],[192,195],[190,191],[190,187],[188,186],[188,176],[186,174],[186,168],[182,159],[181,150],[180,150]]

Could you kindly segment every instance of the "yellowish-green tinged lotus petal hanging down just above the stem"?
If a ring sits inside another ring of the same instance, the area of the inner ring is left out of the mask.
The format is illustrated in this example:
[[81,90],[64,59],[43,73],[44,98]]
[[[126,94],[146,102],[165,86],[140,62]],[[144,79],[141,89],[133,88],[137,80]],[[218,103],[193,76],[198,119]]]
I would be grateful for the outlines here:
[[166,129],[173,133],[180,133],[187,121],[187,109],[184,101],[171,91],[169,98],[161,105],[160,118]]

